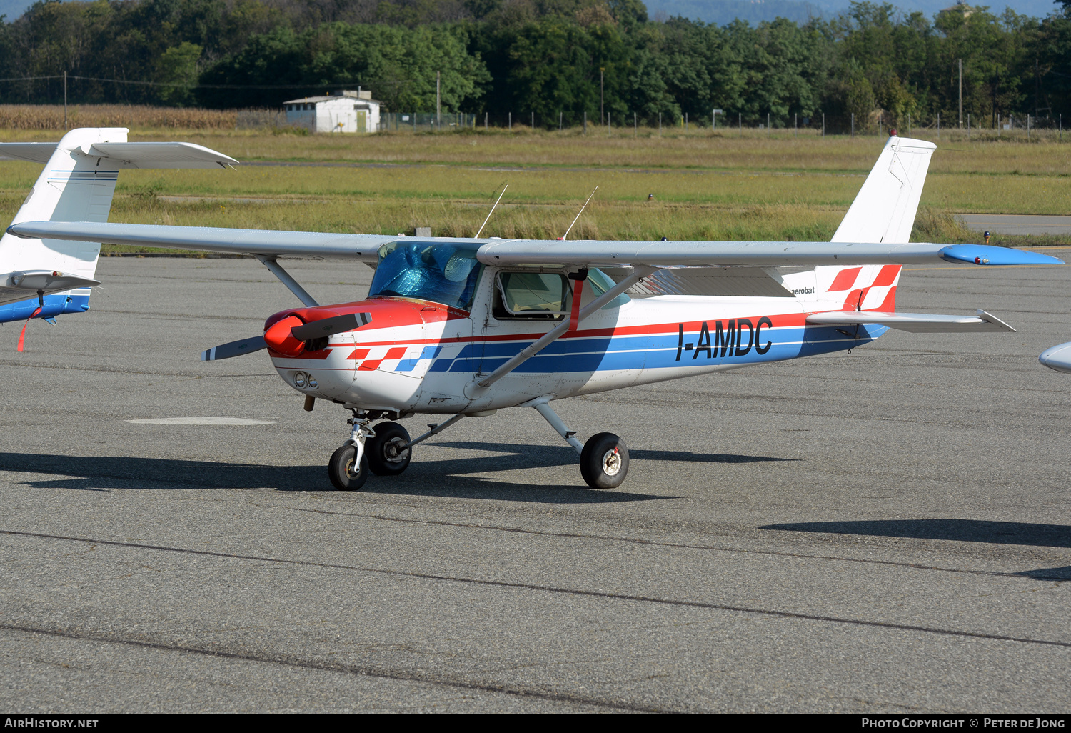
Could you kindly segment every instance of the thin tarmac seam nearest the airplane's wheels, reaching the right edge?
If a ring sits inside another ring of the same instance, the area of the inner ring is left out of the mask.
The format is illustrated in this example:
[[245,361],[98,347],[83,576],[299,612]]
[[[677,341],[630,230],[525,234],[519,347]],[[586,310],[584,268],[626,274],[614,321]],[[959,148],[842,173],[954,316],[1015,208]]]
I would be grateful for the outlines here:
[[[436,445],[436,444],[429,444],[429,445]],[[840,557],[836,555],[809,555],[800,552],[781,552],[778,550],[746,550],[741,548],[723,548],[723,547],[718,547],[715,544],[687,544],[683,542],[659,542],[657,540],[645,540],[635,537],[618,537],[615,535],[580,535],[569,532],[522,529],[519,527],[499,527],[488,524],[466,524],[463,522],[446,522],[442,520],[404,519],[399,517],[387,517],[384,514],[360,514],[357,512],[349,512],[349,511],[329,511],[327,509],[301,509],[300,507],[287,507],[285,505],[283,508],[290,511],[307,511],[316,514],[338,514],[341,517],[360,517],[362,519],[376,519],[376,520],[382,520],[384,522],[407,522],[411,524],[437,524],[443,527],[462,527],[466,529],[489,529],[493,532],[509,532],[518,535],[542,535],[544,537],[564,537],[567,539],[594,539],[594,540],[604,540],[607,542],[630,542],[632,544],[649,544],[657,548],[679,548],[682,550],[710,550],[712,552],[728,552],[728,553],[738,552],[748,555],[774,555],[779,557],[799,557],[802,559],[825,559],[825,560],[832,560],[835,563],[863,563],[868,565],[890,565],[899,568],[909,568],[911,570],[935,570],[938,572],[959,572],[968,575],[1014,578],[1016,580],[1031,580],[1031,581],[1050,580],[1059,583],[1069,582],[1068,578],[1024,575],[1019,572],[1002,572],[999,570],[970,570],[967,568],[942,568],[936,565],[919,565],[918,563],[897,563],[895,560],[877,560],[877,559],[868,559],[865,557]]]

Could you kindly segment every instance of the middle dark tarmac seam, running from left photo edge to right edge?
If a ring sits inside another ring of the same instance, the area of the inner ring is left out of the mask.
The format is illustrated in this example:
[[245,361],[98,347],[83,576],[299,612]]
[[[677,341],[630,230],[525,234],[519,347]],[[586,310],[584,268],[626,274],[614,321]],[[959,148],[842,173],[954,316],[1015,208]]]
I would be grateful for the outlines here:
[[281,565],[303,565],[317,568],[329,568],[332,570],[355,570],[357,572],[369,572],[379,575],[393,575],[396,578],[418,578],[420,580],[444,581],[448,583],[466,583],[469,585],[484,585],[499,588],[521,588],[524,590],[540,590],[543,593],[563,594],[569,596],[588,596],[592,598],[612,598],[615,600],[636,601],[640,603],[657,603],[659,605],[676,605],[693,609],[707,609],[710,611],[728,611],[734,613],[749,613],[759,616],[772,616],[775,618],[796,618],[800,620],[814,620],[828,624],[847,624],[849,626],[866,626],[881,629],[894,629],[897,631],[919,631],[921,633],[936,633],[946,637],[964,637],[967,639],[984,639],[987,641],[1011,641],[1021,644],[1039,644],[1042,646],[1062,646],[1071,648],[1071,642],[1053,641],[1050,639],[1030,639],[1028,637],[1008,637],[997,633],[984,633],[981,631],[961,631],[957,629],[942,629],[932,626],[917,626],[914,624],[894,624],[891,622],[870,622],[862,618],[842,618],[838,616],[823,616],[810,613],[795,613],[791,611],[775,611],[772,609],[749,608],[746,605],[728,605],[724,603],[706,603],[703,601],[679,600],[674,598],[659,598],[657,596],[637,596],[623,593],[607,593],[605,590],[585,590],[583,588],[562,588],[553,585],[536,585],[534,583],[512,583],[509,581],[483,580],[479,578],[462,578],[457,575],[440,575],[428,572],[413,572],[408,570],[389,570],[386,568],[361,567],[355,565],[336,565],[333,563],[317,563],[315,560],[286,559],[281,557],[269,557],[266,555],[240,555],[229,552],[212,552],[210,550],[190,550],[186,548],[168,548],[160,544],[142,544],[138,542],[118,542],[115,540],[95,540],[86,537],[66,537],[64,535],[44,535],[34,532],[15,532],[11,529],[0,529],[0,535],[14,537],[33,537],[36,539],[54,539],[67,542],[85,542],[87,544],[104,544],[120,548],[134,548],[138,550],[157,550],[161,552],[176,552],[188,555],[205,555],[209,557],[227,557],[231,559],[247,559],[258,563],[278,563]]

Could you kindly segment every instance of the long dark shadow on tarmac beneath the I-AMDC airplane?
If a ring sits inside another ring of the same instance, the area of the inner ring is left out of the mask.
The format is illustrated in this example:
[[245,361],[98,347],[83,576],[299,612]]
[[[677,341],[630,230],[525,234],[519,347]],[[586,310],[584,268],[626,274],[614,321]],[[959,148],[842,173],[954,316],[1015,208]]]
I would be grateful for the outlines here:
[[[472,455],[459,450],[456,459],[414,461],[402,476],[372,476],[364,484],[366,493],[451,496],[503,499],[547,504],[607,504],[677,498],[657,494],[622,491],[593,491],[586,487],[576,470],[575,484],[533,485],[502,481],[471,474],[506,470],[538,470],[575,465],[576,452],[567,446],[528,446],[495,443],[436,444],[441,447],[496,451],[496,455]],[[639,450],[635,460],[682,461],[694,463],[752,463],[795,459],[688,451]],[[47,473],[70,478],[27,481],[35,489],[107,491],[109,489],[275,489],[277,491],[333,491],[323,465],[266,466],[212,461],[187,461],[153,458],[81,458],[35,453],[0,453],[0,469]],[[138,485],[138,482],[165,485]]]

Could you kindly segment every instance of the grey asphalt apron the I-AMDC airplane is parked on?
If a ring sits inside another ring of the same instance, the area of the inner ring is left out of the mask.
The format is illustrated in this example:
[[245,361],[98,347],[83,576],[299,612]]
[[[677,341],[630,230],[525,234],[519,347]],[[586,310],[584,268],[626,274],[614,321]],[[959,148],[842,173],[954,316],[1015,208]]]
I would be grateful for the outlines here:
[[[286,267],[321,302],[371,275]],[[904,272],[899,310],[1017,333],[555,403],[627,440],[614,491],[530,409],[332,491],[341,408],[198,361],[296,304],[263,268],[99,278],[25,354],[0,328],[6,712],[1071,710],[1071,376],[1037,359],[1068,268]]]

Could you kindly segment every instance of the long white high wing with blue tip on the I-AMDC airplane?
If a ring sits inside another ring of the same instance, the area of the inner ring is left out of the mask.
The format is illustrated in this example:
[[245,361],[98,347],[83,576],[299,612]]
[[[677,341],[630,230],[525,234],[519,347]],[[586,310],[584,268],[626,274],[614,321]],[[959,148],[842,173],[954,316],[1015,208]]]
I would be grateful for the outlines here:
[[[97,241],[110,244],[205,250],[238,254],[375,258],[379,248],[398,241],[382,235],[228,229],[153,224],[19,222],[7,231],[22,238]],[[407,238],[407,241],[412,241]],[[775,267],[785,265],[909,265],[945,259],[976,265],[1062,265],[1056,257],[983,244],[874,244],[865,242],[650,242],[472,240],[428,237],[429,244],[479,245],[485,265],[592,267]]]

